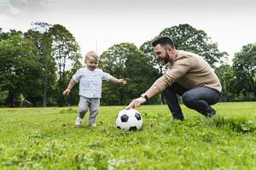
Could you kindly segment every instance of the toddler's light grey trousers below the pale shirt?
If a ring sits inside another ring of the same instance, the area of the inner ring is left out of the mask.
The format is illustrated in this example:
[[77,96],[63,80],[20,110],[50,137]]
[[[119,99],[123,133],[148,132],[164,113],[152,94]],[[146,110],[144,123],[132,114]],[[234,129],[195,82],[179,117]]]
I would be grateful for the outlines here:
[[96,123],[96,116],[98,115],[100,107],[100,98],[85,98],[80,96],[79,99],[79,117],[84,119],[88,109],[90,109],[89,123]]

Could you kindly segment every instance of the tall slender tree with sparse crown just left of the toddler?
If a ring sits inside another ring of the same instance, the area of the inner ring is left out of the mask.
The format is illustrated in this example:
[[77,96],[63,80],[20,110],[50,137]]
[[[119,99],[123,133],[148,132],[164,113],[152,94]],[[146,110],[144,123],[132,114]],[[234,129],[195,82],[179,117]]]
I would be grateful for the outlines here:
[[73,35],[64,26],[54,25],[50,27],[49,35],[52,39],[52,55],[57,66],[56,98],[58,105],[63,106],[66,101],[62,91],[67,88],[67,83],[69,82],[67,71],[71,70],[75,65],[80,66],[80,48]]

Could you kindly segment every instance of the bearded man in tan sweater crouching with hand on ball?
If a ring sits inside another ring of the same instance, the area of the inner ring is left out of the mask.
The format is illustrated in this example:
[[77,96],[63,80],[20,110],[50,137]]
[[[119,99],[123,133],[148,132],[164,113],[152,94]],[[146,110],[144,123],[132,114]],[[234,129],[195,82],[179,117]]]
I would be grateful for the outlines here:
[[177,94],[182,96],[183,104],[190,109],[203,116],[214,116],[216,111],[211,105],[220,98],[221,84],[207,61],[197,54],[175,49],[170,37],[157,37],[152,45],[155,58],[168,64],[170,70],[140,98],[133,99],[126,109],[138,107],[162,92],[173,119],[184,120]]

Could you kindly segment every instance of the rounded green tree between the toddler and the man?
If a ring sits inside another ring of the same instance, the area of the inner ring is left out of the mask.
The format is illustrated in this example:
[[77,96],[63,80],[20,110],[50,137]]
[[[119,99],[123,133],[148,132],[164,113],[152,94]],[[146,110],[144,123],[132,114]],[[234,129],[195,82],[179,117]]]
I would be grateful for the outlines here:
[[102,102],[107,105],[126,105],[145,92],[157,78],[157,70],[134,44],[123,42],[113,45],[101,55],[100,67],[127,84],[117,86],[104,83]]

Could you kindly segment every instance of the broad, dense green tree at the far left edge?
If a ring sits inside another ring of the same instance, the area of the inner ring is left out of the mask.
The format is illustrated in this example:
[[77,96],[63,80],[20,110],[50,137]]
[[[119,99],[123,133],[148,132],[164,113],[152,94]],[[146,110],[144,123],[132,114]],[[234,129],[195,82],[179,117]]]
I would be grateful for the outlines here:
[[8,91],[6,104],[15,106],[20,94],[38,96],[41,65],[35,56],[35,46],[20,31],[11,31],[0,41],[0,89]]

